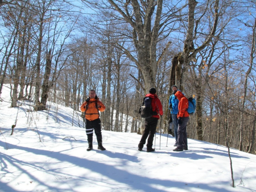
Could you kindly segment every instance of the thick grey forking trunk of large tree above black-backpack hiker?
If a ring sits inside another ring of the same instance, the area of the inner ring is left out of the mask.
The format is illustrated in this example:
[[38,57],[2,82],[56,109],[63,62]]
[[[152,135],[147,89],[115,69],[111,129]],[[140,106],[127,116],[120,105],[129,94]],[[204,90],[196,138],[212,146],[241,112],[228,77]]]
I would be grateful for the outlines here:
[[[108,0],[108,2],[133,28],[133,42],[138,53],[138,60],[135,59],[125,48],[121,47],[121,49],[124,50],[125,54],[132,59],[141,70],[145,83],[144,92],[147,92],[150,88],[156,86],[156,50],[163,1],[158,0],[156,2],[154,0],[149,0],[143,5],[144,10],[141,8],[140,3],[137,0],[129,2],[127,5],[131,3],[129,6],[132,6],[134,10],[134,14],[132,16],[129,14],[126,15],[125,11],[122,11],[114,1]],[[125,4],[125,6],[127,5]],[[157,10],[155,10],[155,5],[157,5]],[[152,22],[154,13],[155,20]],[[136,20],[136,23],[134,23],[134,19]],[[154,27],[152,24],[154,24]]]

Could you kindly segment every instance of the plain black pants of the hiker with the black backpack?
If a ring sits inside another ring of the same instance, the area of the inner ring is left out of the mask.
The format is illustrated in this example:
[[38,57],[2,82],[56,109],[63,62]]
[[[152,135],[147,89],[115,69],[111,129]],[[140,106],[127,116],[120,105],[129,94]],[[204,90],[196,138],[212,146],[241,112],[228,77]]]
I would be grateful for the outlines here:
[[158,122],[158,118],[156,117],[150,117],[145,119],[145,130],[143,131],[143,134],[141,136],[141,139],[138,145],[139,148],[143,148],[144,144],[146,143],[147,137],[148,139],[147,139],[146,147],[147,149],[152,148],[154,136],[157,129],[157,122]]

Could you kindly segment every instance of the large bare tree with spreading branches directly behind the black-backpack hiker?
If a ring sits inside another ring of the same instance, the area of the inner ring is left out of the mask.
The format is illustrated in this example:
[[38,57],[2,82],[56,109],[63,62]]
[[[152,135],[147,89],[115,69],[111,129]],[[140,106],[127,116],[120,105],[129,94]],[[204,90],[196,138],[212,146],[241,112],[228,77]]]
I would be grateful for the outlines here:
[[[104,13],[111,15],[118,22],[125,22],[130,25],[131,30],[125,36],[132,39],[137,55],[133,55],[129,48],[125,48],[125,46],[117,46],[142,71],[145,83],[144,90],[155,87],[156,72],[159,64],[158,59],[161,59],[161,56],[157,59],[156,55],[159,36],[162,35],[162,38],[164,38],[168,35],[169,31],[167,31],[166,26],[177,19],[176,14],[179,13],[183,6],[179,3],[176,5],[165,5],[167,8],[164,9],[165,12],[162,14],[162,0],[127,1],[124,3],[109,0],[108,5],[103,1],[97,3],[91,1],[83,2],[87,2],[97,9],[102,8],[101,11],[106,10]],[[167,50],[169,45],[170,42],[166,44],[165,50]]]

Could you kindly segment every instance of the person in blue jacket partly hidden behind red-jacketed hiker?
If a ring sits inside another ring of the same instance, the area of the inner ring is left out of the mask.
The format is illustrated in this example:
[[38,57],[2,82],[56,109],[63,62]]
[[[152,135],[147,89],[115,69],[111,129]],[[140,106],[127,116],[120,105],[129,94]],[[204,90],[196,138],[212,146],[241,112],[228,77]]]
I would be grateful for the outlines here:
[[177,117],[177,114],[178,114],[179,100],[175,96],[175,93],[180,90],[178,90],[178,87],[175,84],[172,86],[172,90],[173,90],[173,94],[170,95],[170,98],[169,98],[169,110],[170,110],[173,122],[170,122],[169,129],[172,130],[172,126],[174,124],[174,135],[175,135],[174,146],[177,146],[177,140],[178,140],[178,117]]

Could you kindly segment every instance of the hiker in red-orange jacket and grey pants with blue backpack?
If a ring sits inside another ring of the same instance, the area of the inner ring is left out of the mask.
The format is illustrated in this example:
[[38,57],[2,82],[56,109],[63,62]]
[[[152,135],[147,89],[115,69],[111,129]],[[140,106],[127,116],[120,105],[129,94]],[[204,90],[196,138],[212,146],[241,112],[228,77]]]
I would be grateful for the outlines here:
[[187,150],[187,122],[189,120],[189,114],[187,113],[188,108],[188,100],[181,93],[181,91],[177,91],[175,96],[179,99],[178,104],[178,140],[177,140],[177,148],[173,151],[181,152],[183,150]]

